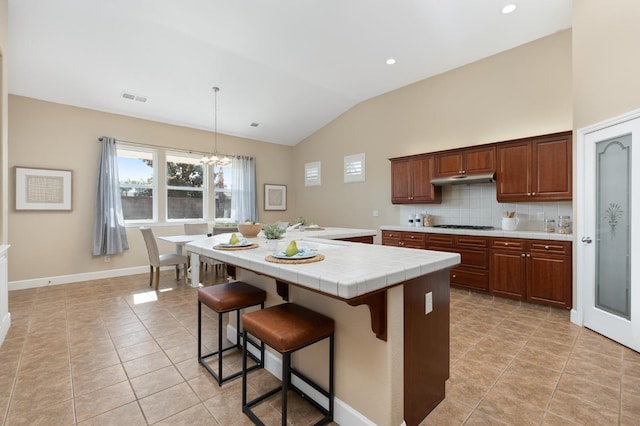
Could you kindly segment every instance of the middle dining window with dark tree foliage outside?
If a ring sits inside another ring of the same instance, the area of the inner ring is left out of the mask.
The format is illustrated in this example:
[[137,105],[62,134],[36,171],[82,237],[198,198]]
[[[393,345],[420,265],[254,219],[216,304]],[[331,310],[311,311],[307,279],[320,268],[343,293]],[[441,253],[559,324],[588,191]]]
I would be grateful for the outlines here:
[[167,152],[167,220],[204,219],[205,174],[200,156]]

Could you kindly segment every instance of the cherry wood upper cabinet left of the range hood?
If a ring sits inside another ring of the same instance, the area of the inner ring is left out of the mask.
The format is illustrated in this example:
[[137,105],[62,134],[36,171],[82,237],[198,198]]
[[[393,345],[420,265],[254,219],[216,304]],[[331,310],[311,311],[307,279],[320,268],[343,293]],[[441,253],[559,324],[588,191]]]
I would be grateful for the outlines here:
[[431,185],[433,155],[391,158],[393,204],[440,203],[441,189]]

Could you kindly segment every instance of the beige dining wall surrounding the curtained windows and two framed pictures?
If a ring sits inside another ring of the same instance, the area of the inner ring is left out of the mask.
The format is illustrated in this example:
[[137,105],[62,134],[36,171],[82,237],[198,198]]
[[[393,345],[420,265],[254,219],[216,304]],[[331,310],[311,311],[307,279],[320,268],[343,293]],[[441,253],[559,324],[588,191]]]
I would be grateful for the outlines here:
[[[197,151],[211,149],[211,132],[161,124],[40,100],[9,97],[9,281],[59,277],[147,265],[144,242],[137,227],[129,228],[130,250],[112,256],[111,263],[91,256],[95,205],[98,138],[102,135],[166,147]],[[292,148],[226,135],[218,137],[222,152],[256,157],[258,205],[262,209],[263,183],[286,184]],[[73,170],[72,212],[15,211],[14,166]],[[293,203],[293,194],[289,199]],[[260,212],[260,219],[293,220],[284,212]],[[164,226],[157,235],[182,232],[182,226]],[[169,244],[162,251],[175,248]],[[55,284],[55,280],[53,282]]]

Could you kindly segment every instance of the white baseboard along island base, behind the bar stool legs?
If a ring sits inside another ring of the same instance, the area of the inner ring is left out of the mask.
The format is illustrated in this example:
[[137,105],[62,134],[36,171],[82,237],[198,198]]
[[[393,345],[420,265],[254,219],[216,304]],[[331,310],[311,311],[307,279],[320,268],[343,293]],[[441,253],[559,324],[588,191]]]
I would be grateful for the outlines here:
[[[227,324],[227,336],[229,341],[235,343],[236,336],[236,328],[232,325]],[[260,356],[260,352],[255,349],[253,346],[249,345],[249,352],[254,354],[256,357]],[[273,374],[278,379],[282,380],[282,359],[276,356],[274,353],[265,350],[265,360],[264,360],[264,368],[269,373]],[[316,401],[318,404],[327,408],[327,399],[320,394],[317,390],[307,385],[305,382],[301,381],[297,377],[293,377],[293,384],[296,385],[300,390],[305,392],[311,399]],[[353,425],[353,426],[376,426],[374,422],[367,419],[365,416],[360,414],[360,412],[353,409],[350,405],[346,404],[344,401],[336,398],[333,398],[333,421],[339,425]]]

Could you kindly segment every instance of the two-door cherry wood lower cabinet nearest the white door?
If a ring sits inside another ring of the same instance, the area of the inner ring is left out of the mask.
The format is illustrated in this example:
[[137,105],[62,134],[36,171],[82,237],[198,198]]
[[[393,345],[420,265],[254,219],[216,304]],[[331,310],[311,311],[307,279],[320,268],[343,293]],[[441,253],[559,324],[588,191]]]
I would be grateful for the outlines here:
[[491,293],[561,308],[572,306],[571,243],[493,238]]

